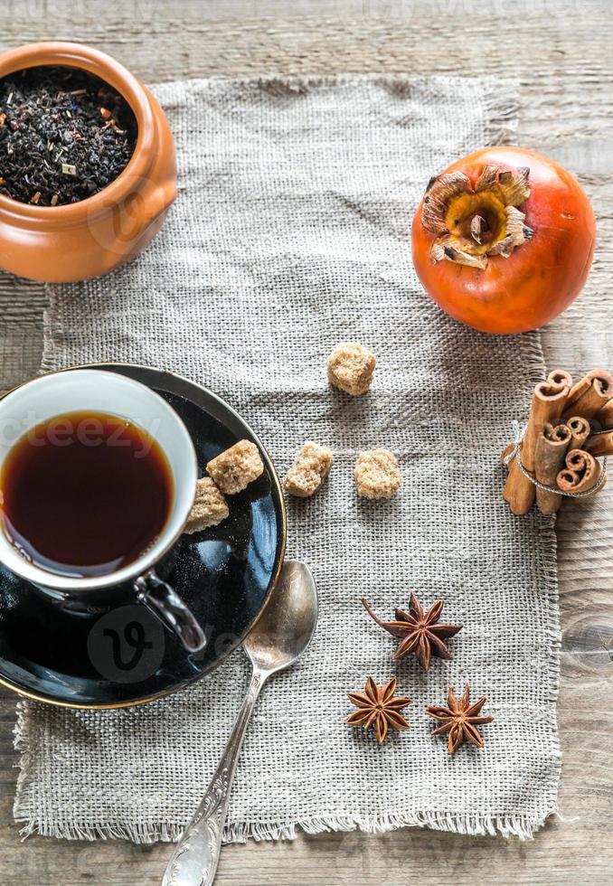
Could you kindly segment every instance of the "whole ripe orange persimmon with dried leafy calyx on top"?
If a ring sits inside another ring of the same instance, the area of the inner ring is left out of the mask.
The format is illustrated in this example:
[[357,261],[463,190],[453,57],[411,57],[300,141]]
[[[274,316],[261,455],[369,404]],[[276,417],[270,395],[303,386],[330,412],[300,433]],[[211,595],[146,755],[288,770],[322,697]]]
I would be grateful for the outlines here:
[[546,156],[486,147],[432,178],[412,254],[444,311],[483,332],[536,329],[585,284],[596,221],[577,180]]

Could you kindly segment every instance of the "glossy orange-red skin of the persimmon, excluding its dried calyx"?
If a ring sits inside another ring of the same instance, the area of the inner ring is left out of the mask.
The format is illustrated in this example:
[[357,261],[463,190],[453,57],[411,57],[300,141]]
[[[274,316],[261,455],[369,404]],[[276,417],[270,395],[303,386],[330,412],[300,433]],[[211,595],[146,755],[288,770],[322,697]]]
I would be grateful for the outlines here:
[[461,170],[474,185],[486,164],[501,171],[530,167],[528,200],[521,207],[532,240],[508,259],[492,256],[484,270],[452,261],[431,263],[434,235],[421,224],[422,203],[412,226],[413,264],[430,297],[461,323],[499,335],[527,332],[561,314],[588,277],[596,220],[577,180],[546,156],[521,147],[487,147],[445,170]]

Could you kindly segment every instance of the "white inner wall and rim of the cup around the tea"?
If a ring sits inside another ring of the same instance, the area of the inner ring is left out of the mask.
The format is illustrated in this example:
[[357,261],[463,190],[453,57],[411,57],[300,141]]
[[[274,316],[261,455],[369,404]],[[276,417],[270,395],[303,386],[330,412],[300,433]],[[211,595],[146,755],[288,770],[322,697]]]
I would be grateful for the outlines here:
[[[183,421],[155,391],[119,375],[95,369],[74,369],[43,375],[7,394],[0,401],[0,470],[10,449],[42,422],[66,412],[106,412],[137,424],[165,453],[174,484],[174,496],[165,528],[156,542],[121,570],[94,578],[71,578],[42,570],[27,561],[0,530],[0,561],[17,575],[47,588],[86,590],[104,588],[151,569],[183,532],[193,505],[198,467]],[[104,526],[99,531],[104,532]]]

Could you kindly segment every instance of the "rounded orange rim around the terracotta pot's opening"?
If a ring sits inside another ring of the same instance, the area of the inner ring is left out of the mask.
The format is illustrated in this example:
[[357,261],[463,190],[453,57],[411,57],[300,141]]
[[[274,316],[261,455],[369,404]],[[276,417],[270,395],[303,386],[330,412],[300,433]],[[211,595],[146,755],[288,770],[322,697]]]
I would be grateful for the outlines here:
[[35,221],[40,225],[47,222],[50,227],[56,227],[58,224],[82,221],[84,213],[88,218],[93,218],[110,212],[113,206],[125,200],[134,184],[146,178],[154,148],[155,127],[146,87],[120,61],[106,52],[85,43],[58,40],[27,43],[0,54],[0,78],[26,68],[48,66],[80,68],[94,74],[126,99],[137,118],[137,143],[126,168],[98,193],[79,203],[64,206],[38,206],[0,194],[0,212],[8,213],[14,219]]

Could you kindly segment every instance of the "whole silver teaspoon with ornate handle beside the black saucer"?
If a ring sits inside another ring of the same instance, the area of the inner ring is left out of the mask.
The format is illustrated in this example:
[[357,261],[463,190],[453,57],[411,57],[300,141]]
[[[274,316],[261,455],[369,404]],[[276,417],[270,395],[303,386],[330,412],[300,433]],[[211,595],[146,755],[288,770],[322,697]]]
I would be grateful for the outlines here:
[[243,644],[253,665],[247,696],[203,802],[168,862],[162,886],[212,886],[234,772],[255,703],[269,676],[293,665],[303,654],[316,624],[313,576],[305,563],[288,560],[268,606]]

